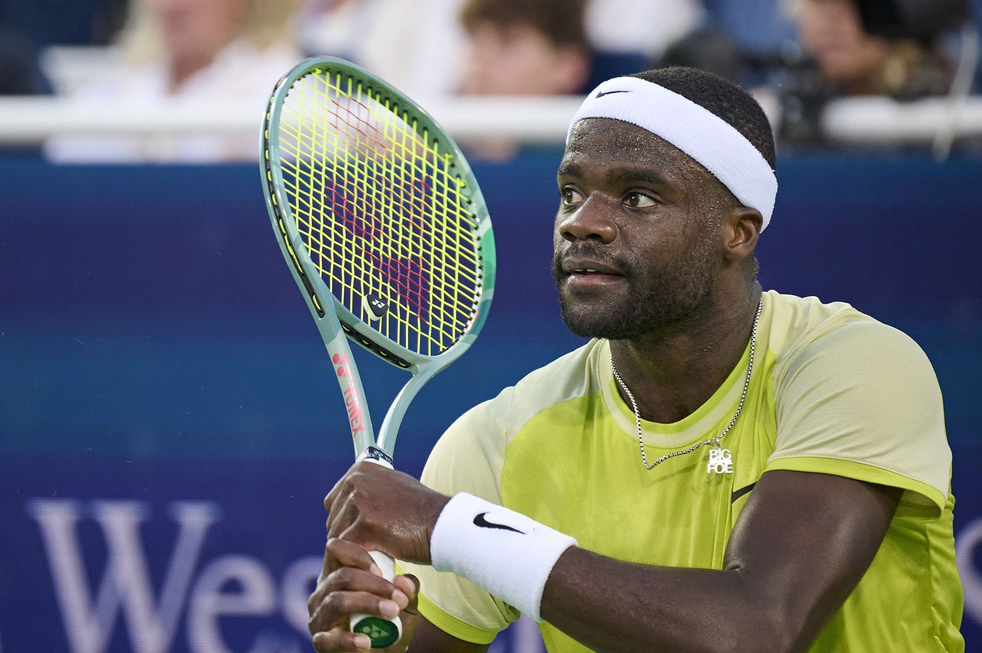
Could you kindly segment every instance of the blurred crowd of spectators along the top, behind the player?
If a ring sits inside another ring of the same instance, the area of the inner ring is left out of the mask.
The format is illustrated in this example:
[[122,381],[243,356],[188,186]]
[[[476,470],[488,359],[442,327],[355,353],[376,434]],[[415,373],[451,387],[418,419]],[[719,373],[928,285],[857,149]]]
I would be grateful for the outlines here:
[[[837,137],[837,125],[862,136],[872,124],[888,134],[866,146],[945,156],[982,145],[971,97],[982,79],[977,15],[971,0],[0,0],[0,93],[133,112],[221,99],[259,113],[276,80],[311,55],[355,61],[424,104],[574,96],[617,75],[686,65],[752,90],[784,147],[843,147],[863,138]],[[877,102],[836,122],[826,109],[840,98]],[[58,162],[255,151],[254,138],[206,130],[51,132],[30,147]],[[473,147],[492,158],[516,149]]]

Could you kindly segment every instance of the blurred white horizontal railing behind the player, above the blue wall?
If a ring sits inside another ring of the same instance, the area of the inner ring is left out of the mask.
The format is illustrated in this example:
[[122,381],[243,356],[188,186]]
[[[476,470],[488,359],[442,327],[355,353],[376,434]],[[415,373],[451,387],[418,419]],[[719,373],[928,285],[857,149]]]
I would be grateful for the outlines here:
[[[562,143],[578,98],[467,97],[422,101],[450,134],[461,139],[508,138]],[[773,102],[768,113],[775,117]],[[244,103],[164,101],[146,106],[106,105],[51,97],[0,98],[0,147],[38,145],[51,136],[246,136],[257,134],[262,109]],[[848,98],[831,102],[822,121],[827,136],[844,143],[923,143],[939,132],[982,136],[982,96],[955,108],[946,98],[895,102]]]

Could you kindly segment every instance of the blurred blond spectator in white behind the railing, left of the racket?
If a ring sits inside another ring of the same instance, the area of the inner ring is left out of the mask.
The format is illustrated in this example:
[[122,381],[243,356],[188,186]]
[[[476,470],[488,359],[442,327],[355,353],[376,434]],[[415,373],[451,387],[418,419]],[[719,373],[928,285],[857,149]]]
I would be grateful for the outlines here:
[[[297,9],[297,0],[136,0],[121,38],[126,66],[80,99],[134,111],[167,98],[241,100],[258,116],[301,58]],[[253,137],[57,136],[45,151],[60,162],[223,161],[253,158],[256,147]]]

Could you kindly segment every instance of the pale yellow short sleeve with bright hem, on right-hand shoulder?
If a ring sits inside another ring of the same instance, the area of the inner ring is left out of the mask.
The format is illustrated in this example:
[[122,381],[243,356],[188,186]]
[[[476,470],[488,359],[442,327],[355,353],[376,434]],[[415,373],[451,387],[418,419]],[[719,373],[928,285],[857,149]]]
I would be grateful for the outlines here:
[[846,322],[775,369],[778,435],[767,470],[847,476],[905,490],[899,515],[944,511],[952,452],[927,356],[872,319]]

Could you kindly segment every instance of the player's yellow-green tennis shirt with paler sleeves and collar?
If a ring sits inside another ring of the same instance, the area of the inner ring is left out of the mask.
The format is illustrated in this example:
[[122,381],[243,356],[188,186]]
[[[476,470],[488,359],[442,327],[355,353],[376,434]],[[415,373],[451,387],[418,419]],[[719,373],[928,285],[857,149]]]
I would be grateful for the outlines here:
[[[682,421],[642,421],[649,461],[726,427],[748,355],[749,347]],[[765,471],[899,487],[900,508],[876,558],[809,650],[964,650],[952,454],[938,382],[912,340],[846,303],[765,293],[746,402],[722,447],[732,455],[729,472],[709,473],[709,447],[645,469],[608,343],[591,341],[467,411],[440,439],[422,481],[518,511],[604,556],[716,570]],[[456,637],[487,643],[518,619],[453,573],[403,568],[420,579],[422,614]],[[550,653],[588,650],[539,626]]]

